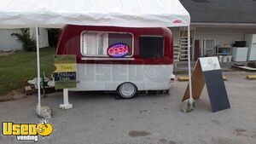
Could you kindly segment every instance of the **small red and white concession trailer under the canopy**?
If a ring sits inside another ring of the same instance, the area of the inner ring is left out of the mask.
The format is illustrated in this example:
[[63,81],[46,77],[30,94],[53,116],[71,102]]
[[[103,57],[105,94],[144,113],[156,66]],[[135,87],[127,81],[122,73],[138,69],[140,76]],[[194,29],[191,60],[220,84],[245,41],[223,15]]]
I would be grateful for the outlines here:
[[137,28],[67,25],[57,55],[76,55],[77,88],[117,91],[131,98],[141,90],[172,86],[172,32],[165,27]]

